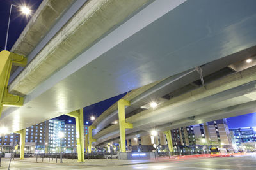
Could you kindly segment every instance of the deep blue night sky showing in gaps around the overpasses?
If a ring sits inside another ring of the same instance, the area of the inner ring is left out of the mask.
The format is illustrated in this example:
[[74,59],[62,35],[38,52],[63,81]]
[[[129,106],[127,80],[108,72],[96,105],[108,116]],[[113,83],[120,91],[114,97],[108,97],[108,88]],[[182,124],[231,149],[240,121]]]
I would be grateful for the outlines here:
[[[8,17],[10,11],[10,4],[22,5],[26,4],[29,6],[33,13],[35,13],[36,9],[40,5],[42,0],[0,0],[0,51],[4,50],[4,43],[6,38],[6,29],[8,25]],[[32,13],[32,15],[33,15]],[[9,29],[9,38],[8,38],[8,46],[7,50],[10,50],[15,43],[15,41],[19,38],[22,30],[28,24],[29,18],[23,15],[20,15],[20,11],[18,8],[14,7],[12,10],[11,22],[10,22],[10,29]],[[122,96],[125,94],[120,94],[119,96],[112,97],[111,99],[107,99],[105,101],[101,101],[96,104],[92,104],[91,106],[87,106],[84,108],[84,124],[90,119],[93,115],[98,117],[103,111],[109,108],[113,103],[118,101]],[[65,115],[58,117],[62,120],[72,120],[72,124],[74,124],[74,118],[67,117]],[[228,126],[230,128],[236,127],[253,127],[256,126],[256,113],[251,113],[247,115],[241,115],[238,117],[228,118]],[[89,122],[91,124],[92,122]]]

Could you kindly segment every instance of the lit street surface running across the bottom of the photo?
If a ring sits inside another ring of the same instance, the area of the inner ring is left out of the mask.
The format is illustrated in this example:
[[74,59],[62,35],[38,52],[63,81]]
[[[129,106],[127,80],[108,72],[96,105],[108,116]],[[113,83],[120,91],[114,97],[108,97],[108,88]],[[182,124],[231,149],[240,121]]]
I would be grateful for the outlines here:
[[[7,169],[8,162],[3,161],[0,169]],[[243,155],[236,157],[219,157],[219,158],[198,158],[198,159],[180,159],[168,160],[155,163],[144,164],[127,164],[115,166],[111,160],[107,165],[77,163],[77,164],[47,164],[47,163],[33,163],[33,162],[12,162],[11,169],[92,169],[92,170],[118,170],[118,169],[211,169],[211,170],[225,170],[225,169],[256,169],[256,154]]]

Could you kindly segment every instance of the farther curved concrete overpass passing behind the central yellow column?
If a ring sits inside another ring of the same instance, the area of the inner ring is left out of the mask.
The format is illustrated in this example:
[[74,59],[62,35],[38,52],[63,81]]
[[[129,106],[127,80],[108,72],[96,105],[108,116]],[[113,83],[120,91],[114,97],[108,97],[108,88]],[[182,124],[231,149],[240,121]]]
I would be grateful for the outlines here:
[[[232,57],[234,59],[234,56]],[[234,62],[233,59],[228,59],[228,62]],[[255,60],[255,57],[250,59]],[[175,79],[170,77],[154,85],[147,85],[144,89],[133,90],[131,94],[124,96],[123,99],[131,101],[131,106],[125,110],[125,122],[133,124],[133,128],[126,131],[127,138],[149,134],[152,129],[164,132],[255,112],[256,63],[248,64],[240,57],[238,60],[240,61],[235,61],[236,65],[230,64],[227,67],[222,67],[228,64],[223,59],[202,66],[205,71],[204,86],[199,75],[196,75],[198,73],[190,71],[186,76]],[[218,71],[207,75],[207,68],[211,66]],[[243,69],[237,71],[234,70],[235,67]],[[166,80],[170,83],[164,86],[163,82]],[[161,88],[152,92],[159,84],[162,84]],[[141,94],[144,98],[133,102]],[[157,108],[150,108],[149,103],[152,100],[159,103]],[[119,125],[115,122],[118,120],[116,109],[114,104],[93,122],[95,130],[92,138],[97,139],[94,145],[120,141]]]

